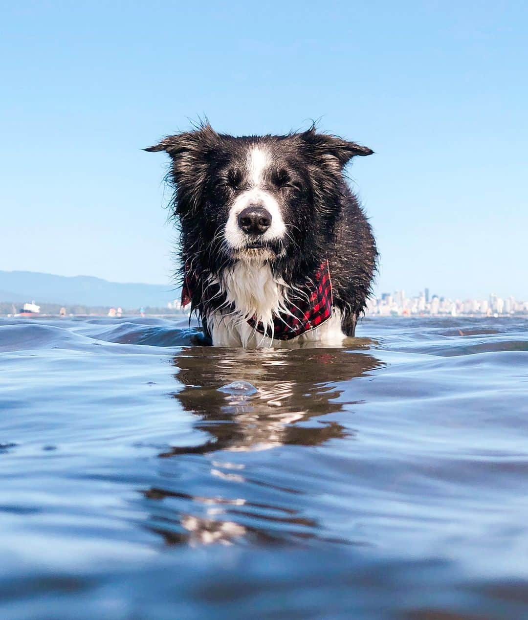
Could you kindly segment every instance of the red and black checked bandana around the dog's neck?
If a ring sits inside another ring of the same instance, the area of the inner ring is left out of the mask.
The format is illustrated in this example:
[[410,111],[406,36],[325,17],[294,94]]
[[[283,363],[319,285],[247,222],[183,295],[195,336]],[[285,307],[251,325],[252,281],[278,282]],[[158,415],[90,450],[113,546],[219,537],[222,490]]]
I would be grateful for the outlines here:
[[[183,281],[182,306],[190,303],[191,293],[190,276],[187,273]],[[320,264],[314,278],[307,281],[302,294],[296,293],[289,303],[289,312],[280,312],[273,319],[273,338],[275,339],[291,340],[319,327],[330,319],[332,316],[332,281],[328,260]],[[253,317],[247,322],[260,334],[266,334],[264,325],[255,321]]]

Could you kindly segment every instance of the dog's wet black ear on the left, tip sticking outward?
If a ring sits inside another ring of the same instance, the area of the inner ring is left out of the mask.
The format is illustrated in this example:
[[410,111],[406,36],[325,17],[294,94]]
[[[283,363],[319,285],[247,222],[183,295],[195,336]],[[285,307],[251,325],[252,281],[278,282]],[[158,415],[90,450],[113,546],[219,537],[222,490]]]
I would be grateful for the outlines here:
[[165,151],[172,159],[169,177],[178,191],[188,190],[187,195],[195,200],[206,180],[208,164],[218,150],[220,136],[211,125],[201,125],[195,131],[184,131],[167,136],[159,144],[144,151],[158,153]]

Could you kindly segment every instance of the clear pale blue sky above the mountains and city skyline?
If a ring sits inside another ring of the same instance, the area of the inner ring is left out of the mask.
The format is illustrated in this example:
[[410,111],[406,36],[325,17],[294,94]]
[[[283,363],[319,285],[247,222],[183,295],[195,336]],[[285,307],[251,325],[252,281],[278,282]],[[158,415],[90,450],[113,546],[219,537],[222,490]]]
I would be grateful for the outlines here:
[[219,131],[323,130],[377,290],[528,299],[526,2],[0,1],[0,269],[167,283],[163,154]]

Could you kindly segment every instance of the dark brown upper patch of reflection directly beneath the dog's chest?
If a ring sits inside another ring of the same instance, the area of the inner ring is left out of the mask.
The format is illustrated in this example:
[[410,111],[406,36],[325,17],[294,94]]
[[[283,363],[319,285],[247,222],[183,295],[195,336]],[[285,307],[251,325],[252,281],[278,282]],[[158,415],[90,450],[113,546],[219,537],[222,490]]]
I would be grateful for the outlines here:
[[320,445],[345,435],[337,422],[309,418],[341,410],[339,381],[368,373],[380,362],[344,349],[244,350],[193,347],[174,360],[183,389],[174,394],[209,433],[201,445],[171,454],[254,450],[283,444]]

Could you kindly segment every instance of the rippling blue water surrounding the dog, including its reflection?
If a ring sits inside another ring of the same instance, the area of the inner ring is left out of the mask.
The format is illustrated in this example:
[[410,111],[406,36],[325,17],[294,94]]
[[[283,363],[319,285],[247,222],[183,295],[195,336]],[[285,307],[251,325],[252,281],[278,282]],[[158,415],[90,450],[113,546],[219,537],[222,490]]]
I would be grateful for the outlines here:
[[528,618],[528,320],[0,320],[0,618]]

